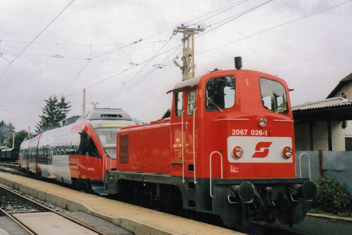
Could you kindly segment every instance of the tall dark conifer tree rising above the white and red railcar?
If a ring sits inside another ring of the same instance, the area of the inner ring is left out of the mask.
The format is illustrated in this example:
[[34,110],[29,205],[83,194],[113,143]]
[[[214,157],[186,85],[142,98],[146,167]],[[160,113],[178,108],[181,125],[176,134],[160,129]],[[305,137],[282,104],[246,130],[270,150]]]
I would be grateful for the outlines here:
[[37,133],[40,133],[43,128],[47,126],[56,126],[59,121],[66,118],[67,113],[70,111],[70,102],[65,101],[65,97],[61,97],[58,101],[56,95],[50,95],[48,100],[45,100],[46,105],[43,108],[43,115],[39,115],[40,121],[37,123]]

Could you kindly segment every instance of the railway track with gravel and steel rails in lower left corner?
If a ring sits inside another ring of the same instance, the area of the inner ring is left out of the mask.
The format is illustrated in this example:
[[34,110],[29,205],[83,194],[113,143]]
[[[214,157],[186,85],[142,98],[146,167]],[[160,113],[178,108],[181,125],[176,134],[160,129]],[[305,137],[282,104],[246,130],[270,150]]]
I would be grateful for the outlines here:
[[[64,217],[78,225],[87,228],[94,233],[105,235],[99,230],[96,230],[89,225],[81,223],[69,216],[63,214],[63,209],[55,207],[54,209],[49,208],[48,206],[43,205],[44,202],[40,200],[35,200],[31,198],[27,198],[20,193],[15,192],[12,188],[4,187],[0,185],[0,198],[1,198],[1,205],[0,205],[0,212],[2,215],[6,215],[11,218],[15,223],[19,224],[24,230],[26,230],[29,234],[34,235],[35,233],[27,228],[26,225],[21,223],[17,220],[13,214],[20,214],[20,213],[36,213],[36,212],[52,212],[59,216]],[[67,212],[67,211],[64,211]]]

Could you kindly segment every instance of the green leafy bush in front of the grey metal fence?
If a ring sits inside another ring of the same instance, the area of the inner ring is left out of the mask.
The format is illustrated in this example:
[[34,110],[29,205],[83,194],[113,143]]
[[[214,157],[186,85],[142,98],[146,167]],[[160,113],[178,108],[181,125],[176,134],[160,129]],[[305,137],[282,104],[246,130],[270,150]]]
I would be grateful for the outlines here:
[[336,178],[328,176],[314,180],[317,186],[317,194],[312,201],[315,211],[324,211],[341,216],[351,215],[351,201],[348,199],[349,192],[345,184],[340,184]]

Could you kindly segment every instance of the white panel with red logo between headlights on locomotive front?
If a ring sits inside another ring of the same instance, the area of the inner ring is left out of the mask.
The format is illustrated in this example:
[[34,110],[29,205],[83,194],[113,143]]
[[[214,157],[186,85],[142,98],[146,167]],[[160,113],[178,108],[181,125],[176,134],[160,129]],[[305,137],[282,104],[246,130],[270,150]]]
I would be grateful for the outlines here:
[[[243,149],[243,156],[233,156],[235,147]],[[227,138],[227,159],[230,162],[293,162],[282,156],[284,147],[292,148],[291,137],[230,136]]]

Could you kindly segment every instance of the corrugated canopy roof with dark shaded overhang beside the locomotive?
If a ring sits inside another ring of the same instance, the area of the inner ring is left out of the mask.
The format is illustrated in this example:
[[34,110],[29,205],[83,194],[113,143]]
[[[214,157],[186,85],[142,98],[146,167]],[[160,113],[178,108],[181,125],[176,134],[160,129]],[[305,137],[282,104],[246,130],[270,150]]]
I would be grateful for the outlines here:
[[293,118],[298,120],[352,120],[352,100],[329,98],[292,107]]

